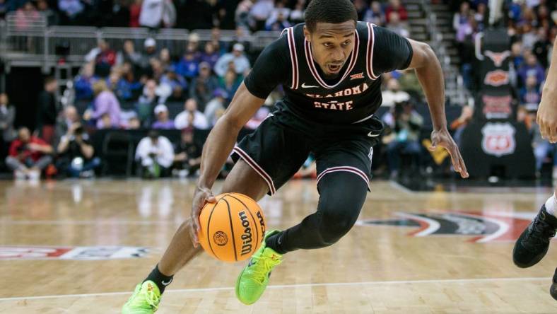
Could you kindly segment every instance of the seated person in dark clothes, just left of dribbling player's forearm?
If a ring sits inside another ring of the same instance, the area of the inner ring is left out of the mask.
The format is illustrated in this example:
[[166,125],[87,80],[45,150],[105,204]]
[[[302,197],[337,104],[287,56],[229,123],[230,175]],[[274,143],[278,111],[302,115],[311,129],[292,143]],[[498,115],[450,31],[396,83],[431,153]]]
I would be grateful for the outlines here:
[[192,127],[183,129],[180,139],[180,143],[174,149],[174,169],[172,174],[180,178],[196,175],[201,165],[203,146],[194,141],[194,129]]

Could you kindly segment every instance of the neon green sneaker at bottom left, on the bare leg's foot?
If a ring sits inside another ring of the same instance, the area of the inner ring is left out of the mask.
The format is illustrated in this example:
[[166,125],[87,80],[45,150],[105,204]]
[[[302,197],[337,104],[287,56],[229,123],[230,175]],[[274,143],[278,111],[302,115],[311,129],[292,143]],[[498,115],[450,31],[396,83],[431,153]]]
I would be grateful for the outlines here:
[[122,307],[122,314],[153,314],[160,302],[158,286],[151,280],[137,284],[134,294]]

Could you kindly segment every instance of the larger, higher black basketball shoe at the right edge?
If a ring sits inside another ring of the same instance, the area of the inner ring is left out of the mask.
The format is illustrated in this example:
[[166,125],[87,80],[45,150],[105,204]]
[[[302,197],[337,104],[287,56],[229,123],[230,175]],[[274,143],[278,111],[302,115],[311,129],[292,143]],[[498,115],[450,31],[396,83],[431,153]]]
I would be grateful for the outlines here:
[[557,218],[542,206],[538,215],[528,225],[512,250],[512,261],[520,268],[527,268],[537,264],[549,248],[549,240],[555,236]]

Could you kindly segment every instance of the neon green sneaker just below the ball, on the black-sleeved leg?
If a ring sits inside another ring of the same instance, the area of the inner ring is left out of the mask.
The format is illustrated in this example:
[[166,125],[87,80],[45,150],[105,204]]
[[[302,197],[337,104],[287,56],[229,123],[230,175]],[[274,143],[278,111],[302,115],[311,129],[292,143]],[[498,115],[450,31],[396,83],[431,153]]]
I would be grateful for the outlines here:
[[282,262],[282,255],[275,252],[271,248],[266,248],[265,240],[278,230],[266,233],[263,243],[257,252],[254,252],[250,263],[244,267],[244,270],[236,280],[236,297],[240,302],[250,305],[255,303],[269,284],[269,276],[271,270]]

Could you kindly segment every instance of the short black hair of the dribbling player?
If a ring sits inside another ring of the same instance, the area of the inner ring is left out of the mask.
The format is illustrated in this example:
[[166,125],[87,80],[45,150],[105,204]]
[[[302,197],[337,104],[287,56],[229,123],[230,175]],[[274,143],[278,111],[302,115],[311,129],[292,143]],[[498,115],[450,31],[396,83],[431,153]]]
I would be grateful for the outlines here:
[[358,22],[358,12],[350,0],[312,0],[305,10],[305,27],[310,32],[317,23]]

